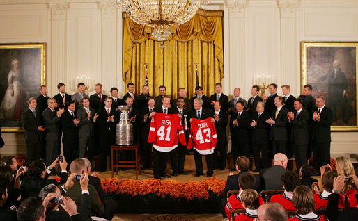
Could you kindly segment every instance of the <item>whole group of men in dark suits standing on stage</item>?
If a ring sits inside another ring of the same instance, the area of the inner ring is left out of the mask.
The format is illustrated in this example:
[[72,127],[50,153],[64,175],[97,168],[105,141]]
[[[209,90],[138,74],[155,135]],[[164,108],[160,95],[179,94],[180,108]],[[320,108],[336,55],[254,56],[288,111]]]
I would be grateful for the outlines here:
[[[288,156],[294,154],[297,167],[306,163],[307,153],[311,153],[311,149],[316,167],[329,163],[332,111],[325,106],[324,97],[318,97],[317,100],[312,97],[311,85],[305,85],[303,95],[297,99],[290,95],[289,85],[281,87],[284,97],[277,95],[278,87],[274,83],[269,85],[268,97],[260,97],[260,88],[254,85],[251,88],[252,97],[248,101],[240,97],[240,88],[234,89],[234,97],[229,101],[228,96],[222,92],[221,83],[215,84],[215,94],[210,98],[203,95],[203,88],[199,86],[192,99],[185,96],[185,88],[180,88],[179,97],[174,100],[166,95],[164,85],[159,87],[157,97],[150,97],[148,85],[143,86],[141,95],[137,97],[134,84],[128,83],[128,92],[122,99],[118,97],[117,88],[111,88],[111,97],[103,95],[100,83],[95,85],[95,94],[91,96],[86,95],[84,83],[77,85],[77,92],[72,96],[65,92],[63,83],[59,83],[57,88],[59,93],[49,98],[46,85],[41,85],[40,95],[37,99],[29,100],[29,110],[23,113],[28,147],[26,164],[36,158],[46,158],[46,162],[51,163],[60,154],[62,141],[68,161],[77,156],[84,157],[86,153],[93,161],[93,156],[100,153],[100,170],[106,170],[109,146],[116,143],[120,105],[130,106],[134,141],[142,144],[143,169],[151,165],[151,145],[146,140],[151,117],[156,112],[187,115],[182,117],[182,120],[187,119],[187,124],[190,124],[190,118],[212,117],[218,142],[215,153],[206,156],[210,167],[208,176],[212,175],[214,169],[224,170],[226,167],[227,124],[231,133],[233,159],[249,156],[251,147],[256,170],[267,167],[270,154],[277,152]],[[169,101],[164,104],[166,97]],[[36,152],[38,149],[40,151]],[[185,149],[180,146],[176,152],[171,153],[174,176],[178,173],[186,174]],[[194,156],[198,166],[196,175],[201,175],[201,154],[194,153]],[[132,156],[122,157],[128,159]]]

